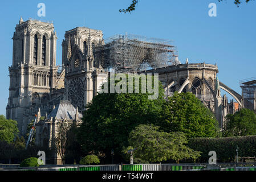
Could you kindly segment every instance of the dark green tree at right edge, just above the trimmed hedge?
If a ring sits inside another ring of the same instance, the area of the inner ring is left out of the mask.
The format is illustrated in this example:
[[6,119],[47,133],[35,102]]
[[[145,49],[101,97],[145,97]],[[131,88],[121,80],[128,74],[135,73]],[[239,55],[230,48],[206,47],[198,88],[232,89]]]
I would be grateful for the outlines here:
[[256,134],[256,115],[249,109],[241,109],[235,114],[227,114],[224,137],[237,137]]

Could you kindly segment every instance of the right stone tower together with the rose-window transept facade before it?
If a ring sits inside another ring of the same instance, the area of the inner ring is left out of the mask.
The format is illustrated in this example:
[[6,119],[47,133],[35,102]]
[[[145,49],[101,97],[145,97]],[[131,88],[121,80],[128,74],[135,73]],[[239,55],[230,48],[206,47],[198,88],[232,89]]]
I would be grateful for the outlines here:
[[103,44],[103,33],[86,27],[66,31],[62,42],[62,65],[65,67],[65,96],[79,112],[96,96],[108,73],[95,60],[94,48]]

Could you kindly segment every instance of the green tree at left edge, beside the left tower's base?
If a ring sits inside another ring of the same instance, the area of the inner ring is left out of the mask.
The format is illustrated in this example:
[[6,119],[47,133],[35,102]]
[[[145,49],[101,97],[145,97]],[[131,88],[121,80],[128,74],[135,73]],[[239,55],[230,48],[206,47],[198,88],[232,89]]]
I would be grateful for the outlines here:
[[18,133],[17,121],[6,119],[4,115],[0,115],[0,140],[11,143]]

